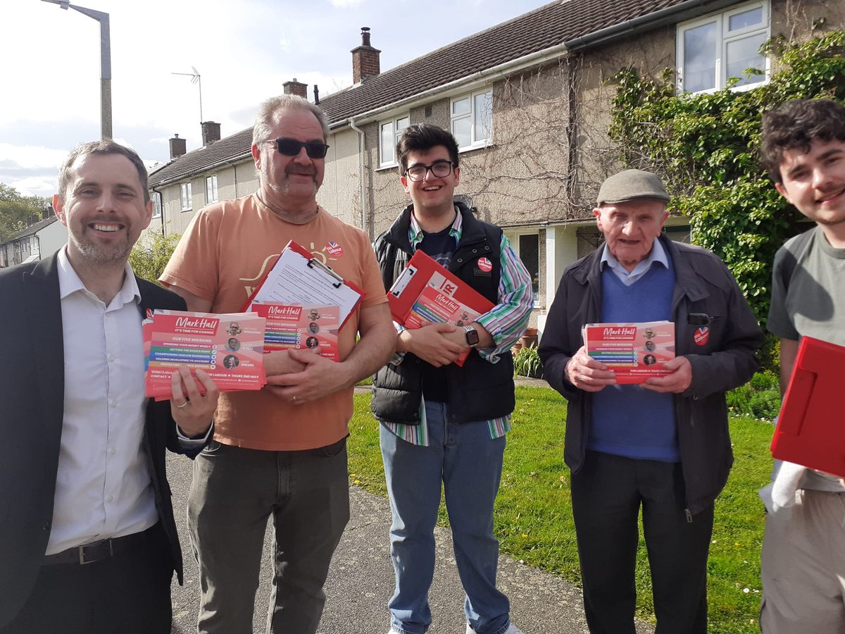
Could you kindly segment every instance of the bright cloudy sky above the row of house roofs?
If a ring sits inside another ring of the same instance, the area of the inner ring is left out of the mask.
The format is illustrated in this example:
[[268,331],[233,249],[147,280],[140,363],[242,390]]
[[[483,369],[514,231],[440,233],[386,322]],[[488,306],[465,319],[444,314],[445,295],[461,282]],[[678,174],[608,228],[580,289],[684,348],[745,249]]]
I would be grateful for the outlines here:
[[[297,78],[320,96],[352,85],[350,50],[369,26],[382,71],[548,0],[79,0],[110,14],[113,136],[151,164],[167,139],[226,137]],[[51,195],[74,145],[100,138],[100,25],[41,0],[0,0],[0,183]]]

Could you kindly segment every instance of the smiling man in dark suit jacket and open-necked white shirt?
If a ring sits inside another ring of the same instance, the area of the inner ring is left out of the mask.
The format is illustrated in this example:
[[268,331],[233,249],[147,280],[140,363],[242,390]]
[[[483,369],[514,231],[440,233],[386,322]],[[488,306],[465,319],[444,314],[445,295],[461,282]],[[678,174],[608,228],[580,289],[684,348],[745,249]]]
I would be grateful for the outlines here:
[[184,309],[128,254],[152,213],[144,164],[111,140],[80,145],[53,199],[68,245],[0,271],[0,633],[171,629],[182,555],[165,447],[194,456],[217,389],[173,373],[144,397],[141,320]]

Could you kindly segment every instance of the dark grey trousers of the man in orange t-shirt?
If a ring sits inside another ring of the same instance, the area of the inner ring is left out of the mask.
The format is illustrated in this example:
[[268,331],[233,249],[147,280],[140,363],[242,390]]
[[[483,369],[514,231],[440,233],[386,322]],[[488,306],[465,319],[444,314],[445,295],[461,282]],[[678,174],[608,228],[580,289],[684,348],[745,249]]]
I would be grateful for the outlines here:
[[200,634],[253,634],[270,516],[275,555],[267,631],[313,634],[331,555],[349,521],[346,439],[304,451],[214,440],[197,456],[188,529],[202,587]]

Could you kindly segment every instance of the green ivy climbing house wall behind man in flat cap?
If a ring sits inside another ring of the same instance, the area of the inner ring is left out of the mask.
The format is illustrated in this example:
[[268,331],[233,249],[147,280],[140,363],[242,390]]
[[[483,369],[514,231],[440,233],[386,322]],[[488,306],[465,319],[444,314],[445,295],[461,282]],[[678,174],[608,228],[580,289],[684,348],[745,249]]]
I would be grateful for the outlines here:
[[692,241],[725,261],[764,324],[775,252],[806,226],[760,167],[760,114],[796,97],[845,101],[845,31],[766,48],[777,70],[752,90],[677,95],[670,70],[620,70],[610,128],[626,165],[662,175]]

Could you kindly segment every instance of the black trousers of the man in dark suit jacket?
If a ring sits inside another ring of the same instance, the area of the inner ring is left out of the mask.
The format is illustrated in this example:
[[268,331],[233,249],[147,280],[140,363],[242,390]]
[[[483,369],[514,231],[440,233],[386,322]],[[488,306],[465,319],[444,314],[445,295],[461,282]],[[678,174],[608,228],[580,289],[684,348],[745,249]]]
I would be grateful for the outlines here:
[[42,566],[30,598],[0,634],[170,634],[172,557],[157,524],[111,559]]

